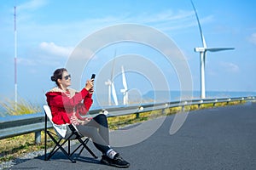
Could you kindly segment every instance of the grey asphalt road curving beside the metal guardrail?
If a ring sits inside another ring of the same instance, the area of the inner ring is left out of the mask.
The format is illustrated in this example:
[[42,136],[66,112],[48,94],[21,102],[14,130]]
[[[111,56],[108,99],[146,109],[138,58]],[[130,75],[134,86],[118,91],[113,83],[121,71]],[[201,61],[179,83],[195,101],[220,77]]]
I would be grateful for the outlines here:
[[[167,116],[156,133],[143,142],[116,148],[131,162],[128,169],[256,169],[255,103],[190,111],[183,127],[170,135],[172,120],[173,116]],[[137,132],[137,135],[140,133],[143,131]],[[115,131],[111,136],[118,138]],[[92,144],[90,148],[96,155],[101,156]],[[44,156],[39,156],[10,169],[118,168],[102,165],[99,159],[92,159],[84,151],[76,163],[71,163],[60,153],[50,161],[44,161]]]

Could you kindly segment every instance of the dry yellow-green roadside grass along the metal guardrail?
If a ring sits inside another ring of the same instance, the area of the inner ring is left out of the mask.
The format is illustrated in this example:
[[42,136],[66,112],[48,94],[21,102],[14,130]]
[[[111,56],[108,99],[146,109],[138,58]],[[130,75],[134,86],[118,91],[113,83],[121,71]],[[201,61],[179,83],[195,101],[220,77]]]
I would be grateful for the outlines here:
[[[184,107],[184,111],[195,111],[198,109],[207,109],[212,107],[219,107],[224,105],[239,105],[243,104],[243,102],[235,101],[235,102],[229,102],[228,104],[226,102],[218,103],[216,105],[212,104],[204,104],[200,105],[188,105]],[[29,109],[22,109],[22,107],[19,107],[22,111],[32,111],[31,108]],[[110,129],[118,129],[119,127],[124,127],[128,124],[133,124],[136,122],[144,122],[148,121],[149,119],[153,119],[158,116],[169,116],[172,114],[176,114],[178,112],[182,111],[182,107],[172,107],[172,108],[166,108],[165,110],[159,110],[159,111],[148,111],[140,113],[140,116],[137,117],[136,114],[131,114],[127,116],[114,116],[114,117],[108,117],[108,123]],[[36,108],[38,111],[38,108]],[[13,111],[13,109],[11,109]],[[16,112],[15,112],[16,113]],[[41,133],[42,137],[44,137],[44,132]],[[14,159],[17,156],[22,156],[23,154],[26,154],[31,151],[37,151],[37,150],[43,150],[44,149],[44,138],[42,138],[41,144],[34,144],[34,133],[28,133],[25,135],[16,136],[9,139],[1,139],[0,140],[0,162],[3,161],[9,161]],[[52,141],[47,142],[48,148],[53,146]]]

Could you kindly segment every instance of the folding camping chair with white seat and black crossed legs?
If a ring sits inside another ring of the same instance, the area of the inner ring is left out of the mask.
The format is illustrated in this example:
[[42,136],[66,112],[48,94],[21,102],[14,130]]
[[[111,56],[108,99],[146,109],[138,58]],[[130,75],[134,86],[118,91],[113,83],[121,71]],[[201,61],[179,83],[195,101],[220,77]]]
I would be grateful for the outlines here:
[[[56,153],[57,150],[61,150],[67,158],[75,163],[76,161],[73,159],[73,154],[79,150],[79,148],[82,146],[81,150],[79,151],[79,155],[82,153],[84,148],[90,152],[90,155],[93,156],[94,158],[97,158],[97,156],[90,150],[90,148],[87,146],[87,143],[89,141],[89,138],[82,139],[84,136],[81,136],[79,134],[79,131],[74,127],[72,124],[63,124],[63,125],[56,125],[54,122],[52,122],[52,115],[51,111],[49,108],[49,105],[44,105],[44,113],[45,113],[45,127],[44,127],[44,160],[48,161],[54,154]],[[49,131],[47,128],[47,118],[49,119],[49,122],[53,125],[53,128],[55,129],[55,133]],[[47,152],[47,135],[49,136],[50,139],[52,139],[55,143],[55,147],[49,152],[49,155],[46,156]],[[58,137],[59,139],[55,139],[55,137]],[[71,153],[71,148],[70,148],[70,141],[71,140],[78,140],[79,141],[79,146],[73,150]],[[63,145],[67,143],[67,150],[63,148]]]

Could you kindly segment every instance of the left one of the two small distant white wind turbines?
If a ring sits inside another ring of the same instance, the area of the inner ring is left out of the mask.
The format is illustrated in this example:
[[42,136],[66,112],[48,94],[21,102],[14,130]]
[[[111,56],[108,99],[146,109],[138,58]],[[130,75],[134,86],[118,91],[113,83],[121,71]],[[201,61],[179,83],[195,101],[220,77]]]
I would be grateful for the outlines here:
[[[116,51],[114,52],[114,57],[115,56],[116,56]],[[115,61],[115,59],[113,59],[111,77],[110,77],[110,79],[108,79],[107,82],[105,82],[105,84],[108,86],[108,105],[112,105],[111,94],[112,94],[112,97],[113,97],[114,105],[119,105],[117,95],[116,95],[116,92],[115,92],[115,88],[114,88],[114,82],[113,82],[114,61]]]

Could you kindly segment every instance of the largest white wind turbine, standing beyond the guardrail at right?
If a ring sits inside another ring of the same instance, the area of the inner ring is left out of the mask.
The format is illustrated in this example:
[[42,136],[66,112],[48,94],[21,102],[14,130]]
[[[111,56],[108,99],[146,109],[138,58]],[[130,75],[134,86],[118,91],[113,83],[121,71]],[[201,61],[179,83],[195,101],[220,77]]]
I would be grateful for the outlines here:
[[194,8],[195,11],[195,16],[196,16],[196,20],[199,26],[199,31],[201,34],[201,41],[202,41],[202,48],[195,48],[195,52],[199,52],[200,53],[200,65],[201,65],[201,99],[205,99],[206,98],[206,88],[205,88],[205,64],[206,64],[206,57],[207,57],[207,51],[210,52],[218,52],[218,51],[224,51],[224,50],[230,50],[230,49],[235,49],[235,48],[207,48],[207,42],[205,40],[205,37],[203,36],[202,30],[201,30],[201,24],[195,9],[195,5],[192,2],[192,6]]

